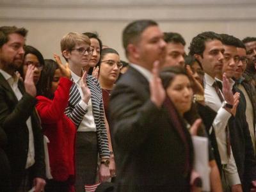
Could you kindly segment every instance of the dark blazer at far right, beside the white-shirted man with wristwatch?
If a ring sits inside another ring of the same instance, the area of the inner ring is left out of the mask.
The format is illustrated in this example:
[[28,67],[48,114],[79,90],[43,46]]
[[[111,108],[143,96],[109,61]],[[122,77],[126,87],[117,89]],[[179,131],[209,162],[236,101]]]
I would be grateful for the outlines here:
[[256,159],[253,152],[252,138],[246,122],[246,100],[239,89],[233,88],[233,92],[239,92],[240,99],[236,116],[231,116],[228,120],[230,143],[237,171],[243,184],[243,191],[250,191],[250,182],[256,180]]

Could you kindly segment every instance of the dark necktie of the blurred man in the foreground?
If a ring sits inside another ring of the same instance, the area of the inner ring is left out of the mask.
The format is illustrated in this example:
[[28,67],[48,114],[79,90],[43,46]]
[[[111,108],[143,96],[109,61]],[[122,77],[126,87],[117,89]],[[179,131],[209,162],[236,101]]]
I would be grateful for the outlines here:
[[180,120],[180,117],[177,111],[175,110],[175,107],[173,106],[172,101],[169,98],[166,98],[166,100],[164,100],[164,107],[166,107],[166,109],[168,110],[173,127],[177,129],[177,132],[179,132],[180,138],[184,143],[185,152],[186,152],[186,163],[184,164],[184,173],[189,173],[189,170],[191,169],[190,152],[189,152],[189,143],[184,132],[184,127],[182,125],[182,122]]

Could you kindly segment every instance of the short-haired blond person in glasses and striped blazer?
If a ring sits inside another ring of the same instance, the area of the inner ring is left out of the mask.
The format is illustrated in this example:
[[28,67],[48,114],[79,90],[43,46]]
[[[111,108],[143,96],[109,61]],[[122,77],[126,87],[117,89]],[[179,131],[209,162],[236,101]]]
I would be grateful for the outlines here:
[[[68,33],[61,39],[61,52],[68,61],[74,81],[65,114],[77,125],[76,191],[84,191],[84,185],[95,184],[98,153],[99,181],[104,182],[110,177],[108,136],[101,88],[97,79],[84,75],[83,71],[92,56],[93,49],[90,44],[88,36],[80,33]],[[86,83],[82,84],[84,78]],[[78,113],[84,114],[83,119],[79,118]]]

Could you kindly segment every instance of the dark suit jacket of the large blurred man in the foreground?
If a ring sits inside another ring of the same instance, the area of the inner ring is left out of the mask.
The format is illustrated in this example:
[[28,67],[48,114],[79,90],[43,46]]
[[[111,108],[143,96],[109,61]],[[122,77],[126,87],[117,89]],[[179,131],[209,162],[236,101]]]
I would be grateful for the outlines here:
[[[150,100],[148,81],[136,69],[130,67],[116,83],[109,117],[116,191],[189,191],[184,142],[167,109],[158,109]],[[191,160],[191,137],[185,126],[182,129]]]

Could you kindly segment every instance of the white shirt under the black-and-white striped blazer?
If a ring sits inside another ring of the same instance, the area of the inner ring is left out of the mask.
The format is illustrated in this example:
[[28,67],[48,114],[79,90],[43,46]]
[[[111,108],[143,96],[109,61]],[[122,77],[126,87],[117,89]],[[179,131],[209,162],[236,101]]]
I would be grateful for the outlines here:
[[[71,75],[72,75],[74,83],[76,83],[76,85],[77,85],[77,88],[79,90],[81,98],[83,98],[84,94],[81,89],[82,78],[77,76],[76,74],[74,74],[74,72],[71,72]],[[93,116],[93,111],[92,111],[92,99],[89,100],[88,104],[86,104],[85,102],[83,102],[83,100],[81,100],[79,102],[79,105],[83,109],[87,109],[88,112],[84,115],[83,120],[82,120],[81,124],[79,125],[77,131],[79,131],[79,132],[88,132],[88,131],[96,132],[96,124],[94,122],[94,116]]]

